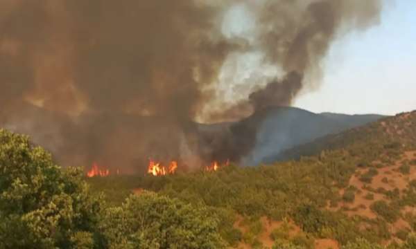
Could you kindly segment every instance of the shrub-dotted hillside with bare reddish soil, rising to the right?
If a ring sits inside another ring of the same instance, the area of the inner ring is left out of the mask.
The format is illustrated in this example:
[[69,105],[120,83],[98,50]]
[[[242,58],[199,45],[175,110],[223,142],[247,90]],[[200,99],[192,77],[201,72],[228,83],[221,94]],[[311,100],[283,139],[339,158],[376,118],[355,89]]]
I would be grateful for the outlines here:
[[[256,168],[231,164],[218,172],[144,176],[131,179],[129,187],[139,196],[150,190],[208,208],[230,248],[284,243],[308,249],[370,248],[369,243],[413,248],[415,124],[416,111],[401,113],[304,145],[318,156]],[[295,151],[301,153],[300,148]],[[111,196],[119,192],[110,190],[115,178],[89,182]],[[120,199],[112,199],[112,205]],[[357,239],[361,246],[353,247]]]

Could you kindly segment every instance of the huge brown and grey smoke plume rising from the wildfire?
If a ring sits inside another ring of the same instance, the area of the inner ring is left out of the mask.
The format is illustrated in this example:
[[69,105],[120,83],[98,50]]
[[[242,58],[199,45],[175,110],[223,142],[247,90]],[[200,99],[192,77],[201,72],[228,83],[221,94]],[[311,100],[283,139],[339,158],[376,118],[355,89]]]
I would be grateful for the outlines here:
[[[304,86],[319,82],[333,39],[376,24],[382,6],[381,0],[221,2],[0,0],[0,124],[31,134],[64,164],[99,161],[131,170],[158,154],[197,165],[220,154],[218,148],[238,160],[250,153],[255,134],[241,152],[243,141],[234,137],[255,129],[225,129],[201,144],[190,120],[206,106],[203,118],[213,122],[293,104]],[[235,5],[250,10],[252,39],[221,32]],[[264,87],[248,84],[252,93],[239,102],[218,97],[225,60],[253,52],[284,76]]]

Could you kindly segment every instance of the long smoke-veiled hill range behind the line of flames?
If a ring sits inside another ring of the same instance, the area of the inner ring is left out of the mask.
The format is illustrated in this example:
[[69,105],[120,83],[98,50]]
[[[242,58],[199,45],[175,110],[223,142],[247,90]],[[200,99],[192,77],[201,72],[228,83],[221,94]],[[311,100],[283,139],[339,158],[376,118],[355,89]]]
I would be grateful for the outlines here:
[[[172,127],[163,117],[121,113],[68,116],[24,102],[13,103],[10,111],[3,109],[1,126],[30,135],[35,144],[53,152],[57,163],[87,167],[93,163],[105,167],[117,165],[124,167],[126,173],[146,170],[149,157],[166,162],[184,158],[188,164],[198,163],[198,157],[207,162],[229,159],[252,166],[272,163],[265,158],[381,117],[340,118],[339,114],[272,106],[239,121],[200,124],[182,120],[175,121],[176,127]],[[174,129],[179,135],[173,136]]]

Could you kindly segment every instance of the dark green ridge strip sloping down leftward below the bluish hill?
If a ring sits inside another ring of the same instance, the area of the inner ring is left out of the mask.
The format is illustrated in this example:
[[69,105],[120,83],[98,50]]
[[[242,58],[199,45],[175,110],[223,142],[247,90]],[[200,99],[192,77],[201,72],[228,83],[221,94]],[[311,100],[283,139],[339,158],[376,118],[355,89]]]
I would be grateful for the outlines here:
[[[401,143],[408,149],[416,148],[416,111],[400,113],[383,118],[338,134],[318,138],[304,145],[297,145],[275,156],[275,160],[299,159],[301,156],[315,156],[321,151],[349,148],[352,154],[358,153],[354,148],[372,150],[391,143]],[[363,153],[363,151],[361,151]]]

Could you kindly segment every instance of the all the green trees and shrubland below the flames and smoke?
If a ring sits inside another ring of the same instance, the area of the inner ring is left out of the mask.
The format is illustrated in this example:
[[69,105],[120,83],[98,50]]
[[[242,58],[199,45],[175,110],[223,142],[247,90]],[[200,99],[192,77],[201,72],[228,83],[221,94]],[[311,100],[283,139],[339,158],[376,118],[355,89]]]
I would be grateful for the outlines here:
[[166,176],[60,167],[0,131],[0,249],[416,248],[416,111],[273,165]]

